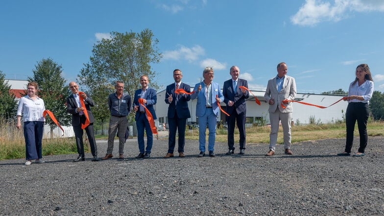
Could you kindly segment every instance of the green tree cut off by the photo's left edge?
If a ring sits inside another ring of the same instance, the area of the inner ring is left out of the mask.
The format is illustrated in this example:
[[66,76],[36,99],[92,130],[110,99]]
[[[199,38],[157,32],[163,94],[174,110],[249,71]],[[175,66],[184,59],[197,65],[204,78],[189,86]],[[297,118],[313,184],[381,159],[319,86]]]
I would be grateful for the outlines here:
[[9,90],[11,86],[5,81],[5,74],[0,71],[0,118],[15,118],[17,102],[15,95]]

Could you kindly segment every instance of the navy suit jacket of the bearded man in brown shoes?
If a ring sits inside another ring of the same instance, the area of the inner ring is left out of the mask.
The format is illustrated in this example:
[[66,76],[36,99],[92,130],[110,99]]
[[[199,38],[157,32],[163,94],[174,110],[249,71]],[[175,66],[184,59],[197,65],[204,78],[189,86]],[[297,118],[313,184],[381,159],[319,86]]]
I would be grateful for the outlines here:
[[[176,94],[175,93],[175,83],[172,83],[167,86],[166,90],[166,103],[169,104],[168,106],[168,118],[172,119],[175,116],[175,113],[177,113],[177,117],[179,119],[188,119],[191,118],[190,109],[188,108],[188,101],[191,100],[191,96],[187,94]],[[179,86],[179,89],[184,89],[186,92],[191,92],[191,86],[181,83]],[[172,102],[169,103],[168,96],[172,96]],[[177,103],[176,103],[177,101]]]

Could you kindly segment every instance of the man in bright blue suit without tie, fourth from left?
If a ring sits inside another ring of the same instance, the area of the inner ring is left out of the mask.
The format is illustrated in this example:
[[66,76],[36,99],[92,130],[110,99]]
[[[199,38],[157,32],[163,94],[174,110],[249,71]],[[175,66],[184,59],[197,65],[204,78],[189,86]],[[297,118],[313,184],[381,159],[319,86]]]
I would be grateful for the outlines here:
[[[139,155],[136,156],[139,158],[149,158],[151,156],[151,149],[153,144],[153,135],[151,126],[149,125],[148,118],[145,113],[144,107],[139,103],[139,98],[143,98],[144,106],[152,114],[153,119],[156,118],[155,109],[153,105],[156,104],[157,95],[156,90],[148,88],[149,79],[148,76],[142,75],[140,77],[140,84],[142,85],[141,89],[135,91],[135,96],[133,99],[133,110],[136,112],[135,120],[137,126],[137,142],[139,144]],[[144,151],[144,129],[146,132],[146,148]]]

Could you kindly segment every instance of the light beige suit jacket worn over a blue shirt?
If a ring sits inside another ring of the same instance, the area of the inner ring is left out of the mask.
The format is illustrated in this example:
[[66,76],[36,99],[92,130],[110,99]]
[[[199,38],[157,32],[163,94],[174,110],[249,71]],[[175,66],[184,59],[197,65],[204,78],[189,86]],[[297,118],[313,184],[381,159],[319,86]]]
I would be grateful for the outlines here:
[[281,101],[284,99],[293,100],[296,96],[296,82],[295,79],[291,76],[286,75],[283,83],[283,88],[280,92],[277,92],[276,86],[276,76],[268,80],[268,85],[266,86],[264,98],[265,101],[269,102],[270,98],[275,100],[275,103],[269,105],[269,113],[274,113],[277,106],[282,113],[291,113],[293,112],[292,102],[289,102],[284,109],[281,107]]

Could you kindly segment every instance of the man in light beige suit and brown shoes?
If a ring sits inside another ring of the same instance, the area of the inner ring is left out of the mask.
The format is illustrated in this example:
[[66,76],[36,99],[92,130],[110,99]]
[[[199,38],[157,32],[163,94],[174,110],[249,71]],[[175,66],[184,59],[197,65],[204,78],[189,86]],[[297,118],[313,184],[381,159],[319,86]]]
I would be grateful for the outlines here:
[[293,100],[296,96],[295,79],[287,75],[287,64],[281,62],[277,65],[277,76],[268,80],[265,91],[265,101],[269,103],[269,120],[271,122],[271,133],[269,134],[269,151],[265,156],[275,154],[277,132],[279,131],[279,121],[283,126],[284,133],[284,153],[292,155],[290,150],[290,122],[292,119],[292,102],[283,100]]

